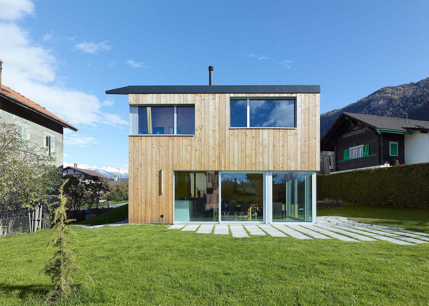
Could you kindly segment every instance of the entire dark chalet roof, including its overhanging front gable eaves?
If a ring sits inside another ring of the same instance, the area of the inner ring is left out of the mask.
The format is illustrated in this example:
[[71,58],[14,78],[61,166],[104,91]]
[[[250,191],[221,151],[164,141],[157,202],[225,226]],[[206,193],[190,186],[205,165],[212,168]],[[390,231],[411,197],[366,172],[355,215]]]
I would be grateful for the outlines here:
[[329,130],[320,139],[320,150],[333,151],[333,145],[330,140],[335,140],[344,131],[347,126],[350,126],[350,121],[353,123],[366,123],[372,129],[390,129],[395,131],[407,132],[410,130],[428,130],[429,121],[412,120],[405,118],[383,117],[368,114],[341,113],[337,120],[332,124]]

